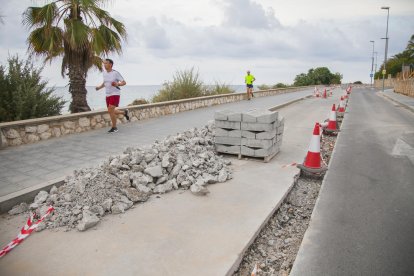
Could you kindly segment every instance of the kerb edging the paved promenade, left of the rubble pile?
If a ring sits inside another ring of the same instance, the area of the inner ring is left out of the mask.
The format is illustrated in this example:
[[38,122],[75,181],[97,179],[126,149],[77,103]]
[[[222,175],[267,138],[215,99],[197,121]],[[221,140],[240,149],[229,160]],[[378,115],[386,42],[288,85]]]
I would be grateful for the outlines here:
[[41,190],[49,191],[52,186],[59,187],[65,183],[65,177],[55,178],[23,190],[0,197],[0,214],[11,210],[13,206],[22,202],[31,202]]

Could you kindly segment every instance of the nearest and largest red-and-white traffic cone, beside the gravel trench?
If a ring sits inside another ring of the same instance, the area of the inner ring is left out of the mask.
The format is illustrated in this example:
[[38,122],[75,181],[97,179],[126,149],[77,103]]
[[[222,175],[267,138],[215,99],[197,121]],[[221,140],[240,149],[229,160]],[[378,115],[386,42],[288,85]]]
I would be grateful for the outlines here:
[[305,161],[303,164],[299,164],[297,166],[302,172],[304,171],[311,174],[320,174],[327,170],[326,166],[323,166],[321,162],[321,140],[319,128],[319,123],[316,123],[313,129],[313,135]]

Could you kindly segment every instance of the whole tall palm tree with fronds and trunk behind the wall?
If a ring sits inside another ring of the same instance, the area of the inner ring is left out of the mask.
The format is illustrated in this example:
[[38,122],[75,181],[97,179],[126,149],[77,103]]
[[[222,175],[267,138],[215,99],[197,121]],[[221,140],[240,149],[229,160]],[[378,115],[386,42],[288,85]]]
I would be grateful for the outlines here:
[[91,110],[86,101],[88,70],[101,69],[104,55],[122,52],[125,26],[100,7],[105,0],[54,0],[43,7],[29,7],[23,24],[31,31],[29,52],[44,61],[62,57],[61,74],[69,76],[72,113]]

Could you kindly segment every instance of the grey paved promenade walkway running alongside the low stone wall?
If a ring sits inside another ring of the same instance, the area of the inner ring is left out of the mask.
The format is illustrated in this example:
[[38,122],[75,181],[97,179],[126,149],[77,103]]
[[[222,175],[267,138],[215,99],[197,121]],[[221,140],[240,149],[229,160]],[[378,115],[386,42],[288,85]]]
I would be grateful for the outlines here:
[[[220,109],[246,111],[272,108],[312,94],[305,90],[279,96],[254,98],[119,126],[119,132],[107,129],[68,135],[35,144],[0,150],[0,213],[18,201],[28,201],[43,187],[61,183],[73,170],[100,164],[108,156],[127,147],[137,147],[164,139],[191,127],[201,127],[214,119]],[[16,200],[14,200],[16,199]]]

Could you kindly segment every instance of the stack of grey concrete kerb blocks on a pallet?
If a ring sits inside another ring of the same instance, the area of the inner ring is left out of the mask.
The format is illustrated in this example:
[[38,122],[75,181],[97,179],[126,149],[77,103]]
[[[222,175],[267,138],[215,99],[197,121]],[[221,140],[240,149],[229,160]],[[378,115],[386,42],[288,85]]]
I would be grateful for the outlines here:
[[217,111],[215,119],[216,151],[264,158],[268,162],[282,146],[284,118],[277,111],[253,109],[245,113]]

